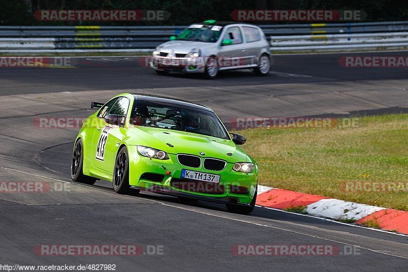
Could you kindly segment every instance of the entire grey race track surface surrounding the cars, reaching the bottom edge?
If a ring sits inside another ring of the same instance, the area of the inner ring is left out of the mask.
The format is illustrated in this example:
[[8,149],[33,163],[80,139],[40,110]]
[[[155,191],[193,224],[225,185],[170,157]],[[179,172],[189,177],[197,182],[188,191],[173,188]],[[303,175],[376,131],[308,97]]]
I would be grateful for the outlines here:
[[[350,54],[348,54],[350,55]],[[406,52],[361,55],[403,56]],[[273,72],[156,75],[139,57],[78,58],[73,68],[0,67],[0,181],[42,181],[42,193],[0,192],[0,263],[116,264],[117,271],[282,270],[403,271],[408,236],[266,208],[251,215],[223,205],[154,194],[117,195],[111,183],[71,182],[78,129],[40,128],[37,117],[86,117],[90,101],[132,91],[207,104],[235,117],[401,112],[408,106],[406,68],[343,68],[340,54],[274,57]],[[64,188],[64,189],[57,189]],[[139,244],[140,256],[41,256],[42,244]],[[237,245],[333,245],[335,256],[236,256]],[[352,254],[350,253],[352,249]]]

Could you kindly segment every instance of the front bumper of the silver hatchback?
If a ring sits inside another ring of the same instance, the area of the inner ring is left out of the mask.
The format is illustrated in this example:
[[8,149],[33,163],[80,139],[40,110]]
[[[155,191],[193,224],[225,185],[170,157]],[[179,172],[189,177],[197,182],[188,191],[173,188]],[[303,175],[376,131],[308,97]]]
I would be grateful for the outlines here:
[[197,58],[172,58],[152,56],[150,67],[160,71],[172,71],[183,73],[203,73],[205,64]]

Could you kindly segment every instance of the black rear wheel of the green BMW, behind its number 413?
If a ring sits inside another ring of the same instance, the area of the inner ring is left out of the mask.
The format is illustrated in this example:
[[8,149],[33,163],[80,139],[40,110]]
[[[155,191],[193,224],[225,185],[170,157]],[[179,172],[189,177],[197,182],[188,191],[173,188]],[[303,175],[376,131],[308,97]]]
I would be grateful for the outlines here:
[[85,184],[93,185],[96,181],[96,178],[84,175],[84,144],[80,138],[72,153],[71,161],[71,179],[73,181],[82,182]]

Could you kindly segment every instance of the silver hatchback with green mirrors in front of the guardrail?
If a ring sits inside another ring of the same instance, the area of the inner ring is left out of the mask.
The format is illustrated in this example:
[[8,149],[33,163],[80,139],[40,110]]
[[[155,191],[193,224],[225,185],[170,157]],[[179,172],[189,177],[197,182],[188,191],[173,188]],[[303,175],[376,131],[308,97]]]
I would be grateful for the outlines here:
[[252,69],[267,75],[270,44],[256,25],[208,20],[191,24],[152,54],[150,67],[158,74],[170,71],[204,73],[215,78],[221,70]]

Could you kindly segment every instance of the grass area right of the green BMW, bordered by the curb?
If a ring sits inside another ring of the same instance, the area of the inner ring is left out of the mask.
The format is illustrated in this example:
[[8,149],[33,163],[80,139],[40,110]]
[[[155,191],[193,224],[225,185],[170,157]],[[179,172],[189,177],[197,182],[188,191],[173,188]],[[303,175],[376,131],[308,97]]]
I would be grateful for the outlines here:
[[408,211],[405,192],[345,192],[349,181],[408,181],[408,114],[362,117],[354,128],[240,130],[260,184]]

